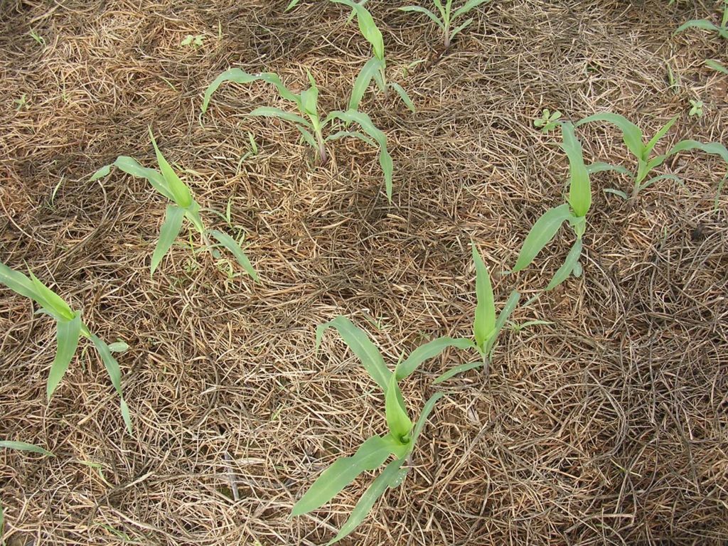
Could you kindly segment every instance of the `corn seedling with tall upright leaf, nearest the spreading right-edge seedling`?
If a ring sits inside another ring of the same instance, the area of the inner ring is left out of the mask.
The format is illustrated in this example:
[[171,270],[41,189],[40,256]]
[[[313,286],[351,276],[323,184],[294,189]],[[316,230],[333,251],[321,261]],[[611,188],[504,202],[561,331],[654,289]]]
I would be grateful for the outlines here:
[[521,253],[518,254],[518,260],[513,268],[513,272],[526,269],[537,254],[553,240],[561,228],[561,224],[568,222],[571,229],[574,230],[577,240],[569,250],[566,260],[547,285],[546,291],[556,288],[569,277],[569,274],[574,274],[574,277],[579,277],[581,274],[582,267],[579,264],[579,258],[582,255],[582,236],[586,231],[586,216],[592,199],[589,170],[584,164],[582,144],[574,133],[574,125],[563,122],[561,134],[563,135],[563,150],[569,157],[569,196],[566,198],[566,203],[547,210],[534,223],[523,242]]

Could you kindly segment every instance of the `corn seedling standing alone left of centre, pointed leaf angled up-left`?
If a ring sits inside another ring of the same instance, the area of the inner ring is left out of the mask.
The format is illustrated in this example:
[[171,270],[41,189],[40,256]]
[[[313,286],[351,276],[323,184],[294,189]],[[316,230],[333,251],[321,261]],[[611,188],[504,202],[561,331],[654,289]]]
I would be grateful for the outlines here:
[[162,258],[172,248],[173,243],[182,230],[183,221],[187,219],[197,229],[197,232],[199,232],[205,249],[209,249],[215,258],[219,258],[220,253],[216,250],[216,246],[210,243],[210,238],[208,237],[210,235],[218,241],[219,245],[227,248],[232,253],[238,264],[245,269],[245,272],[250,277],[253,277],[253,280],[256,282],[259,281],[258,274],[253,269],[253,265],[250,264],[248,256],[240,248],[240,243],[224,232],[216,229],[207,229],[205,227],[199,215],[199,204],[192,197],[192,191],[177,173],[175,173],[172,166],[167,162],[167,159],[162,155],[162,152],[159,151],[157,141],[154,140],[154,135],[151,132],[151,127],[149,128],[149,137],[151,138],[152,146],[154,146],[154,153],[157,155],[159,171],[143,167],[132,157],[119,156],[111,165],[105,165],[96,171],[92,175],[91,180],[94,181],[98,180],[98,178],[103,178],[111,172],[111,167],[117,167],[124,171],[124,173],[138,178],[146,178],[154,189],[172,202],[167,205],[165,221],[159,230],[159,240],[157,240],[157,245],[151,256],[151,276],[154,277],[154,271],[162,262]]

